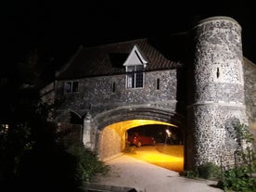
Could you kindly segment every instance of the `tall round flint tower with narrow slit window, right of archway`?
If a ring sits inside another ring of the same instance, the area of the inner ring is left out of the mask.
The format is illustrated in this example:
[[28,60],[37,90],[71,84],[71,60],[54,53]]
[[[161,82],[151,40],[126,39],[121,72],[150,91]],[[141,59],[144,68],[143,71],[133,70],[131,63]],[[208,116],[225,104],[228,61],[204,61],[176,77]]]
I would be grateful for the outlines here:
[[235,19],[200,20],[191,30],[186,168],[234,163],[234,122],[247,123],[241,27]]

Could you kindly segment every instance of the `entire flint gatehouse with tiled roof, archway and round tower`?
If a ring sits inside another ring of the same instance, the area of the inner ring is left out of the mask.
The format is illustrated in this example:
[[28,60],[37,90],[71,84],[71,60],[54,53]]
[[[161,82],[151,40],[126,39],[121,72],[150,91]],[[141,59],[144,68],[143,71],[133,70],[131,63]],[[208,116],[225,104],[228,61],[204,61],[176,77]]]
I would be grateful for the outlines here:
[[252,132],[256,123],[256,67],[243,57],[241,36],[236,20],[212,17],[166,49],[147,38],[80,47],[42,96],[58,103],[59,129],[76,130],[102,160],[122,152],[127,130],[165,124],[183,134],[186,169],[232,163],[232,122]]

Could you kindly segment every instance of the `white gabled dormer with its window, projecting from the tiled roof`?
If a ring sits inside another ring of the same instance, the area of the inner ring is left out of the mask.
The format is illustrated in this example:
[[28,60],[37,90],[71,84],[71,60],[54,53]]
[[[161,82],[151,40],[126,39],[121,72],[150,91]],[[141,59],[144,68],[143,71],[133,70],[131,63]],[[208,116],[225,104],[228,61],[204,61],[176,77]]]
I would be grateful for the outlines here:
[[134,45],[123,66],[126,71],[126,88],[143,88],[144,69],[147,67],[147,59],[139,51],[137,45]]

